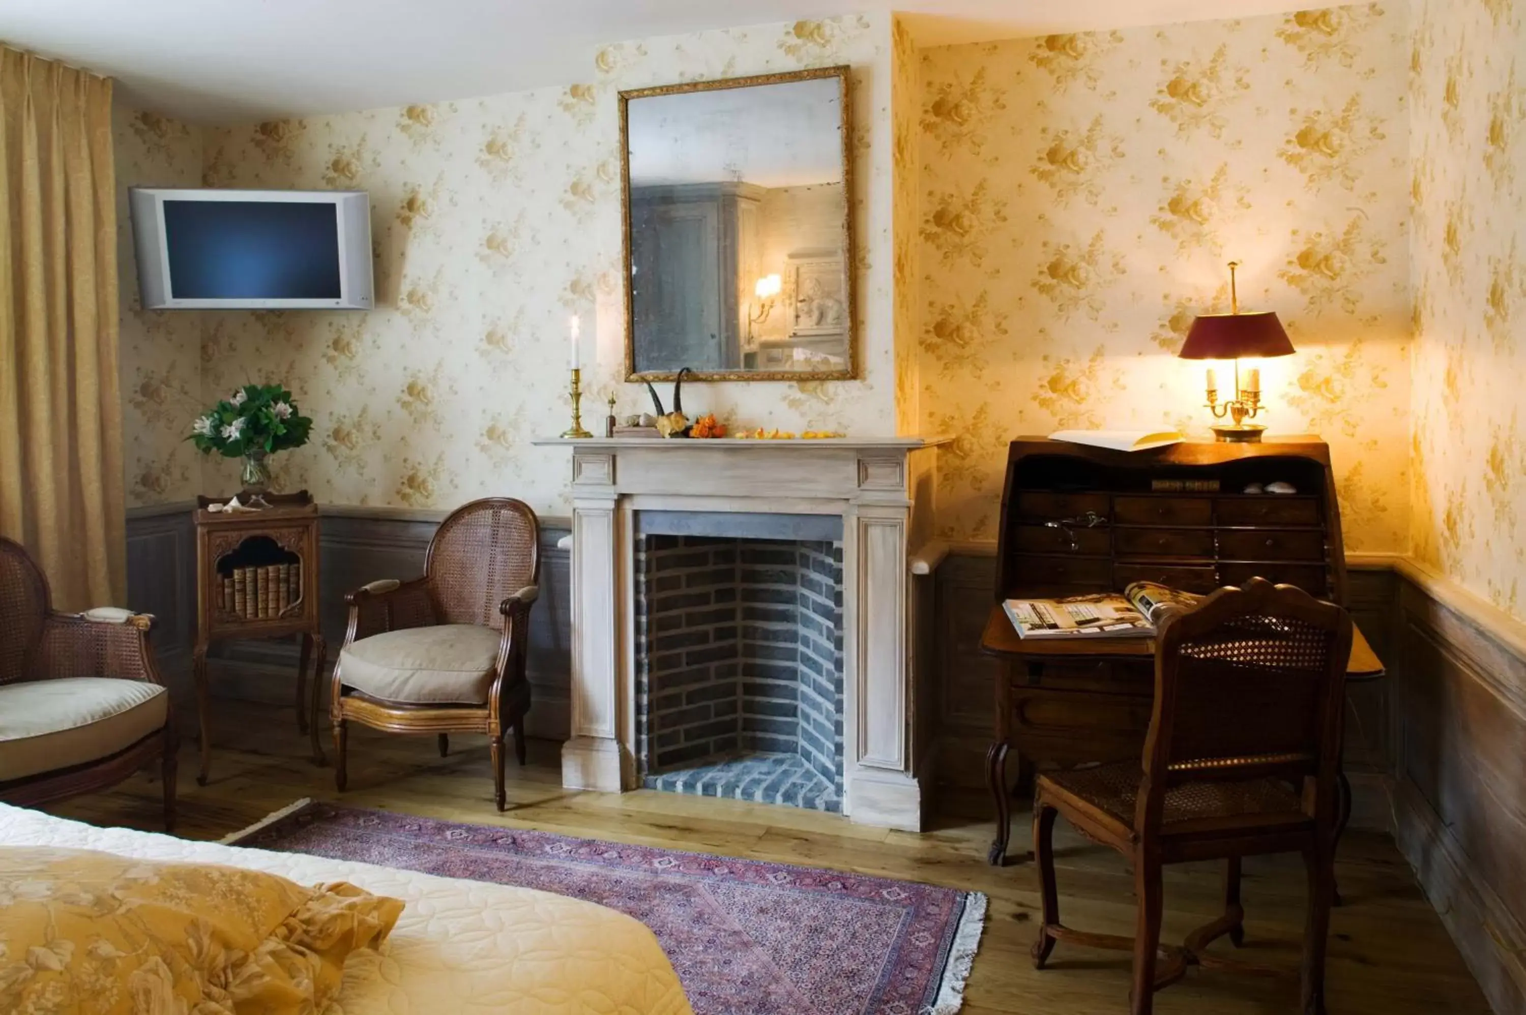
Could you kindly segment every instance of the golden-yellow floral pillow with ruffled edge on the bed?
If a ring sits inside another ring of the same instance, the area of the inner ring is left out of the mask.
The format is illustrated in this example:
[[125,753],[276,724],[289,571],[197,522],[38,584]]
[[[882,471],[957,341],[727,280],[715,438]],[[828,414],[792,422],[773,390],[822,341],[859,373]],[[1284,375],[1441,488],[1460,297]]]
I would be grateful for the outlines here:
[[0,847],[0,1012],[313,1015],[401,911],[345,882]]

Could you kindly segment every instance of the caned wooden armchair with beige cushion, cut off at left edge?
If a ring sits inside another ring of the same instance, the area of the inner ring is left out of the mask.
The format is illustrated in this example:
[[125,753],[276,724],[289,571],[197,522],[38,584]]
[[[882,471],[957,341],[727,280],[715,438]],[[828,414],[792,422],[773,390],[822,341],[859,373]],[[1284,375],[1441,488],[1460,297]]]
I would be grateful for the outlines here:
[[174,830],[179,737],[151,626],[125,609],[53,611],[41,568],[0,537],[0,800],[107,789],[157,759]]

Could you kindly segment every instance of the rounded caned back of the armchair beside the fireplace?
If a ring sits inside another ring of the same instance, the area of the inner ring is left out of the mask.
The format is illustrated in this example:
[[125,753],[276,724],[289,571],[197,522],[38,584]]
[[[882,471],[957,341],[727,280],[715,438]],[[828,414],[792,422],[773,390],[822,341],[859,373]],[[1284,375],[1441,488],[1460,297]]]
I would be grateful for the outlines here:
[[439,524],[424,574],[435,623],[502,629],[499,604],[540,577],[540,522],[513,498],[464,504]]

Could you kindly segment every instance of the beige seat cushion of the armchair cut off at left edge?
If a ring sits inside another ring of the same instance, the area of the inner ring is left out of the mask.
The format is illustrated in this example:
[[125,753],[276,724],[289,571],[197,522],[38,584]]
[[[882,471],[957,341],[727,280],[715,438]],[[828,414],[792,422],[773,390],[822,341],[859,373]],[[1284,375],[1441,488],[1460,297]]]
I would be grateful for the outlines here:
[[159,684],[67,676],[0,685],[0,781],[84,765],[165,728]]

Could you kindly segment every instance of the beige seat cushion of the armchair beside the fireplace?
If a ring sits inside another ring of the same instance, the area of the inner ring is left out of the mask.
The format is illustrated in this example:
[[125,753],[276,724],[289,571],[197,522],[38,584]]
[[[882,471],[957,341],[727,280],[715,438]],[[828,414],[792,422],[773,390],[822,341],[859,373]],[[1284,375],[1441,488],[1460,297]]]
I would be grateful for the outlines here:
[[369,698],[407,705],[487,702],[502,635],[476,624],[388,630],[339,653],[339,676]]

